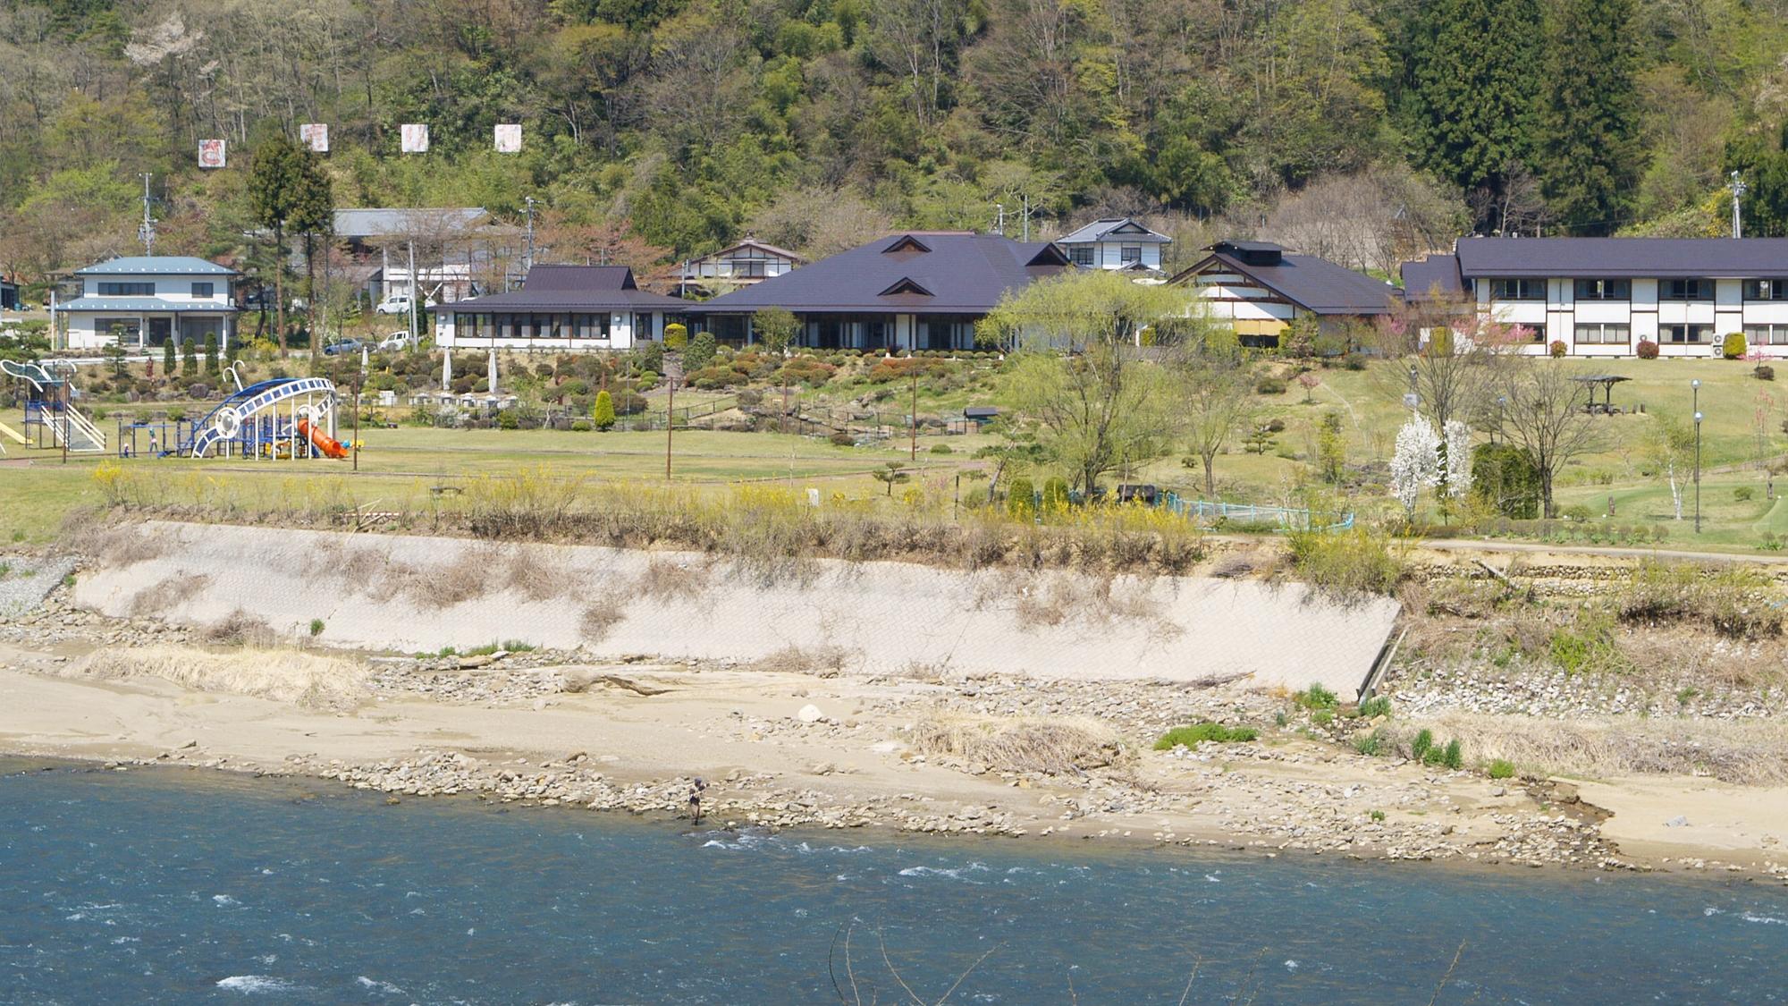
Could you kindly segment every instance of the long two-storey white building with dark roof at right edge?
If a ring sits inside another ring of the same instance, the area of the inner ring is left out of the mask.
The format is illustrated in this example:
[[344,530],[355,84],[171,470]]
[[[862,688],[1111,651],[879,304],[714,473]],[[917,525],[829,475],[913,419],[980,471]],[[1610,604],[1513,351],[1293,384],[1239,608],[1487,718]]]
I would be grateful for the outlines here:
[[1788,354],[1788,238],[1459,238],[1402,272],[1411,303],[1518,324],[1529,353],[1718,356],[1742,333]]

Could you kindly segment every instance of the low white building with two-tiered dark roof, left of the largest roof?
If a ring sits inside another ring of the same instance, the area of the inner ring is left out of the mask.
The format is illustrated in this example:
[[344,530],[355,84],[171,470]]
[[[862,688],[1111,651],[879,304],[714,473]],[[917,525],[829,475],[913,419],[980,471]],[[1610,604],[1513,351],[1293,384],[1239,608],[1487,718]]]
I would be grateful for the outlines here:
[[688,301],[640,290],[626,265],[536,265],[520,290],[433,304],[449,349],[588,353],[663,338]]

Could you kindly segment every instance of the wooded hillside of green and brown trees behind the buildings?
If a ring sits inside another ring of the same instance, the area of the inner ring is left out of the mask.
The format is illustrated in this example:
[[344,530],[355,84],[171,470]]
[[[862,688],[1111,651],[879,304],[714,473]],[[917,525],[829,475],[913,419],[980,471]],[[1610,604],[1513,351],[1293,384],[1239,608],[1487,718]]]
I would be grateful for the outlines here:
[[[266,140],[338,206],[663,258],[1139,215],[1389,274],[1466,231],[1788,234],[1788,0],[0,0],[0,270],[243,252]],[[399,154],[399,125],[433,149]],[[524,125],[520,154],[492,127]],[[200,172],[200,140],[231,163]]]

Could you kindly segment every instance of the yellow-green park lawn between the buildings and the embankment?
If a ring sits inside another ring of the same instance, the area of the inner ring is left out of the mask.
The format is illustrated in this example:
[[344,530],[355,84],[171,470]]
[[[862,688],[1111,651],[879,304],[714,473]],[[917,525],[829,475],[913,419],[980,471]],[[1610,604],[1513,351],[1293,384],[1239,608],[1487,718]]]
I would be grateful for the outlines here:
[[[1615,405],[1631,410],[1645,406],[1645,413],[1598,417],[1602,444],[1591,455],[1573,460],[1559,476],[1557,501],[1561,507],[1581,505],[1598,519],[1616,524],[1663,524],[1668,548],[1708,548],[1750,551],[1761,546],[1763,533],[1788,537],[1788,505],[1767,498],[1765,473],[1756,467],[1759,424],[1765,431],[1765,453],[1775,456],[1788,449],[1781,431],[1788,388],[1777,392],[1774,383],[1758,381],[1752,363],[1725,360],[1618,360],[1584,362],[1563,360],[1545,365],[1563,367],[1575,374],[1618,374],[1631,378],[1615,387]],[[1314,485],[1312,467],[1316,422],[1334,412],[1343,421],[1350,464],[1384,462],[1405,422],[1407,410],[1400,401],[1400,365],[1380,381],[1368,371],[1316,371],[1321,383],[1305,390],[1291,381],[1278,396],[1253,396],[1261,419],[1277,417],[1284,431],[1275,435],[1264,455],[1244,453],[1237,439],[1216,464],[1218,498],[1244,503],[1302,505],[1303,489]],[[1693,533],[1693,485],[1690,473],[1679,473],[1684,490],[1684,516],[1677,523],[1670,489],[1661,478],[1647,474],[1647,437],[1659,415],[1688,421],[1693,412],[1691,379],[1700,379],[1702,422],[1702,533]],[[923,383],[921,383],[923,385]],[[892,388],[881,401],[874,396]],[[780,388],[758,388],[765,401],[780,397]],[[907,385],[867,385],[835,381],[822,388],[794,388],[790,392],[806,403],[840,408],[876,408],[903,413],[910,406]],[[662,408],[663,396],[651,396],[651,406]],[[726,392],[679,392],[678,406],[730,397]],[[998,381],[969,388],[921,387],[919,412],[960,410],[966,405],[1001,405]],[[111,406],[129,408],[129,406]],[[0,422],[20,426],[18,410],[0,412]],[[111,431],[111,421],[100,421]],[[345,433],[343,433],[345,435]],[[243,499],[281,499],[316,492],[342,483],[350,485],[356,501],[381,501],[392,508],[418,508],[429,505],[431,485],[454,478],[501,474],[520,467],[549,465],[565,474],[601,480],[662,480],[665,474],[663,431],[615,430],[552,431],[552,430],[429,430],[401,426],[395,430],[363,428],[365,449],[359,455],[359,473],[350,474],[347,462],[243,462],[243,460],[127,460],[138,469],[168,473],[173,480],[193,485],[202,496],[202,485],[227,483]],[[933,455],[930,448],[948,444],[951,453]],[[835,448],[824,439],[781,433],[724,433],[683,430],[672,439],[672,478],[685,483],[724,487],[751,480],[787,480],[794,487],[819,487],[830,498],[840,492],[851,499],[887,496],[889,487],[869,476],[885,462],[907,462],[914,480],[896,487],[896,496],[907,489],[924,487],[928,492],[953,496],[955,476],[971,467],[992,467],[996,462],[973,460],[973,453],[987,446],[1003,446],[996,435],[923,435],[917,462],[908,460],[908,442],[903,437],[860,446]],[[63,467],[61,456],[50,451],[29,451],[7,442],[13,458],[32,458],[30,467],[5,471],[0,501],[0,535],[23,532],[25,541],[48,541],[70,507],[97,503],[100,494],[93,483],[98,458],[73,458]],[[1041,482],[1051,473],[1028,473]],[[1384,476],[1377,478],[1384,482]],[[1173,451],[1159,460],[1126,467],[1112,482],[1150,482],[1180,490],[1187,496],[1205,496],[1203,473],[1184,451]],[[1371,476],[1368,476],[1371,482]],[[306,487],[309,485],[309,487]],[[985,482],[962,482],[964,496],[976,489],[985,492]],[[1738,499],[1738,490],[1750,490],[1749,499]],[[1788,492],[1788,476],[1781,490]],[[1606,517],[1613,503],[1615,516]],[[1355,492],[1336,505],[1350,507],[1362,516],[1386,514],[1395,508],[1382,492]]]

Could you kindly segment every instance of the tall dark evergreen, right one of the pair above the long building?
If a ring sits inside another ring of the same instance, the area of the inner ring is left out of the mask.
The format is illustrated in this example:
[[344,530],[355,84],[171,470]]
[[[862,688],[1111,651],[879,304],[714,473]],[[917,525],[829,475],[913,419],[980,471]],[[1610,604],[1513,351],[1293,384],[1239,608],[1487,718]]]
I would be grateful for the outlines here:
[[1645,170],[1636,61],[1632,0],[1559,2],[1536,168],[1547,204],[1572,233],[1613,233],[1632,204]]

